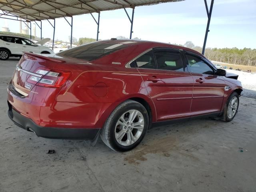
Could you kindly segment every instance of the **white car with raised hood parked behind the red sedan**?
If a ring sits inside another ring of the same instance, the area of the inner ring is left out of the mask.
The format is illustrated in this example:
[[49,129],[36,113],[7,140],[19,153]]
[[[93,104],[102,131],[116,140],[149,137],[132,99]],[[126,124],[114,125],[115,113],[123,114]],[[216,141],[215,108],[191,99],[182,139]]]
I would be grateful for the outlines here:
[[22,36],[0,34],[0,60],[7,60],[9,57],[20,57],[22,56],[22,51],[54,54],[51,49],[40,46],[49,40],[50,38],[45,38],[34,43]]

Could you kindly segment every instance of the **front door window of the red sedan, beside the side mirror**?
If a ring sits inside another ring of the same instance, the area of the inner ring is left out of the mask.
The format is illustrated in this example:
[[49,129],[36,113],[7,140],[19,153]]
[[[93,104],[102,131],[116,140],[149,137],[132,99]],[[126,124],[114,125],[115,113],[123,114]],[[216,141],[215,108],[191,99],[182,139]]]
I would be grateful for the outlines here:
[[202,59],[191,54],[186,54],[189,70],[192,73],[213,75],[214,71]]

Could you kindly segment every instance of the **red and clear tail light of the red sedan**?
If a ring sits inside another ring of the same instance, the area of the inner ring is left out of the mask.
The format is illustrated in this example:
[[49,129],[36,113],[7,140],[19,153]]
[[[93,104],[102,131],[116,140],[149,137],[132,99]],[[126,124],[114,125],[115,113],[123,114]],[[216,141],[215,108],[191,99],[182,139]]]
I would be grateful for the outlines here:
[[40,74],[42,77],[30,75],[27,82],[36,84],[38,86],[53,88],[61,87],[70,77],[70,72],[61,70],[39,69],[36,71],[36,74]]

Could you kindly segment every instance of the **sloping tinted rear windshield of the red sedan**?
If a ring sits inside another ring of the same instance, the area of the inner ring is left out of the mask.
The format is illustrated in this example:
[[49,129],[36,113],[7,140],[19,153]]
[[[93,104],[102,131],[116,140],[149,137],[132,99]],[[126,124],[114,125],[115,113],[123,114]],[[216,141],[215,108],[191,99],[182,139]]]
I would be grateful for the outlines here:
[[56,55],[92,61],[127,46],[127,42],[94,42],[59,52]]

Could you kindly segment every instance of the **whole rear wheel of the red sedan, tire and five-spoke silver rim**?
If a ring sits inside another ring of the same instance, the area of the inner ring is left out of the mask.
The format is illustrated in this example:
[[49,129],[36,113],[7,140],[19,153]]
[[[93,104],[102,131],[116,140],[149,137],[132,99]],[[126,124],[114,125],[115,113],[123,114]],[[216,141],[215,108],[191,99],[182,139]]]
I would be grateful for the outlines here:
[[100,132],[100,138],[112,150],[120,152],[132,150],[144,138],[148,124],[146,108],[139,102],[127,100],[110,114]]

